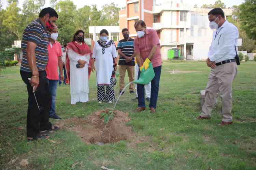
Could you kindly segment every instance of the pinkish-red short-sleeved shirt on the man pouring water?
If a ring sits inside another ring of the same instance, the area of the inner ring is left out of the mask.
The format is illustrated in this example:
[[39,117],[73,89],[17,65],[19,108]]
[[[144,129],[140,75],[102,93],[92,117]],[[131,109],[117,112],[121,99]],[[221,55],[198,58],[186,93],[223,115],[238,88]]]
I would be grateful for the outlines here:
[[153,58],[151,59],[153,67],[158,67],[162,65],[162,58],[160,53],[160,43],[159,37],[156,30],[146,29],[146,33],[143,37],[138,36],[134,39],[134,48],[136,52],[140,52],[142,62],[144,62],[154,45],[158,45]]

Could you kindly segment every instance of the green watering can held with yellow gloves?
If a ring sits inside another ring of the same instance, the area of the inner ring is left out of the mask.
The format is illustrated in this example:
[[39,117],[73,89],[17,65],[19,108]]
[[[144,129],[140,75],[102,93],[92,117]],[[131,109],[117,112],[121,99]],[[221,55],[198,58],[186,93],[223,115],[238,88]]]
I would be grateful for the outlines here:
[[134,80],[132,83],[148,84],[153,80],[154,77],[155,72],[153,69],[153,65],[152,63],[149,63],[149,67],[146,70],[142,68],[142,71],[140,72],[140,78],[138,80]]

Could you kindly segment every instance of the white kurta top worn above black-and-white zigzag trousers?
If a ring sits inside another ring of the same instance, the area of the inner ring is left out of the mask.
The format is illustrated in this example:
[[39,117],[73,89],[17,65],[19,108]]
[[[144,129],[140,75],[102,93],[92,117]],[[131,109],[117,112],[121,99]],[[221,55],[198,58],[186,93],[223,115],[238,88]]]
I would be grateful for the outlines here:
[[115,44],[105,48],[104,54],[102,54],[102,48],[98,42],[95,43],[93,48],[93,58],[96,63],[96,75],[97,84],[108,85],[110,84],[110,78],[113,68],[113,58],[117,57]]

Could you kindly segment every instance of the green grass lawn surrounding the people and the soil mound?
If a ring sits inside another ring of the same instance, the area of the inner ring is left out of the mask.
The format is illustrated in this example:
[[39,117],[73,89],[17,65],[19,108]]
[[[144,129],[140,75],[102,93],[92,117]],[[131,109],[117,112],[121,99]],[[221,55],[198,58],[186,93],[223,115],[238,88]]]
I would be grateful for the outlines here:
[[[208,81],[210,69],[205,62],[164,61],[161,74],[157,113],[150,110],[133,113],[135,95],[126,93],[116,109],[129,112],[126,125],[143,139],[136,145],[120,141],[103,146],[87,145],[75,132],[59,130],[50,139],[27,142],[27,91],[19,75],[19,66],[7,68],[7,77],[0,78],[0,167],[16,169],[8,164],[28,159],[23,169],[89,169],[102,165],[115,170],[166,169],[256,169],[256,62],[243,62],[233,82],[233,124],[221,122],[221,99],[210,120],[196,121],[200,114],[200,90]],[[172,70],[197,71],[170,74]],[[90,101],[70,104],[69,86],[57,89],[56,112],[62,119],[86,118],[97,110],[110,108],[98,104],[96,77],[90,78]],[[126,76],[126,83],[128,78]],[[118,90],[119,91],[119,90]],[[148,103],[147,107],[148,107]],[[57,121],[52,121],[57,122]],[[76,164],[78,163],[78,164]]]

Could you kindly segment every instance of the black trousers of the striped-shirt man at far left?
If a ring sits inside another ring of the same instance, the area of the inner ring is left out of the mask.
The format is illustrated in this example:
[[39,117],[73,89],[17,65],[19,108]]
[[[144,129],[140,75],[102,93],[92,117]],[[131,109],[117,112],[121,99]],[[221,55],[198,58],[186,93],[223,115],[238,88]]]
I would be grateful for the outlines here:
[[[39,131],[48,130],[52,128],[49,122],[49,111],[52,104],[51,93],[49,91],[49,84],[46,78],[46,71],[39,71],[39,86],[33,93],[28,78],[31,78],[32,73],[20,71],[20,75],[28,90],[28,114],[27,114],[27,137],[35,137]],[[37,98],[37,102],[35,100]]]

